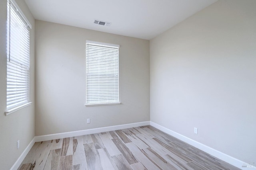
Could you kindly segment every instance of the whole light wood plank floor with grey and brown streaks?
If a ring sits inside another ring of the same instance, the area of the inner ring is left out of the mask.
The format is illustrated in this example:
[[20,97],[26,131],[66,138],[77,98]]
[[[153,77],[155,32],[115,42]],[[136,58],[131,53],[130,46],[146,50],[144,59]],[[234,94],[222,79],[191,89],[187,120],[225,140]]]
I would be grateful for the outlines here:
[[20,170],[238,170],[152,126],[37,142]]

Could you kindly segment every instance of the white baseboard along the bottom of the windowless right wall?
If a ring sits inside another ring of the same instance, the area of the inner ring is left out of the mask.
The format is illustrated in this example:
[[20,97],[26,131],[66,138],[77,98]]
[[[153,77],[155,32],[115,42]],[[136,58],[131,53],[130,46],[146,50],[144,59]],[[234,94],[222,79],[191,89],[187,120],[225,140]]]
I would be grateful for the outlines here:
[[[194,140],[192,140],[192,139],[190,139],[190,138],[188,138],[184,135],[176,133],[176,132],[174,132],[170,129],[167,129],[166,127],[163,127],[161,125],[158,125],[157,123],[154,123],[152,121],[150,121],[150,125],[155,127],[156,129],[159,129],[160,131],[163,131],[163,132],[165,132],[165,133],[167,133],[167,134],[169,134],[173,137],[176,137],[176,138],[180,139],[181,141],[184,141],[184,142],[186,142],[186,143],[188,143],[188,144],[190,144],[190,145],[192,145],[192,146],[194,146],[194,147],[196,147],[196,148],[198,148],[198,149],[200,149],[200,150],[202,150],[202,151],[204,151],[204,152],[206,152],[206,153],[208,153],[212,156],[215,156],[216,158],[219,158],[220,160],[228,162],[229,164],[231,164],[233,166],[236,166],[237,168],[240,168],[242,170],[248,170],[248,168],[242,167],[242,165],[249,165],[249,164],[246,164],[246,162],[243,162],[242,160],[238,160],[238,159],[236,159],[232,156],[229,156],[227,154],[224,154],[224,153],[222,153],[222,152],[220,152],[216,149],[210,148],[210,147],[208,147],[208,146],[206,146],[202,143],[194,141]],[[256,167],[253,166],[253,168],[249,168],[249,169],[256,169]]]

